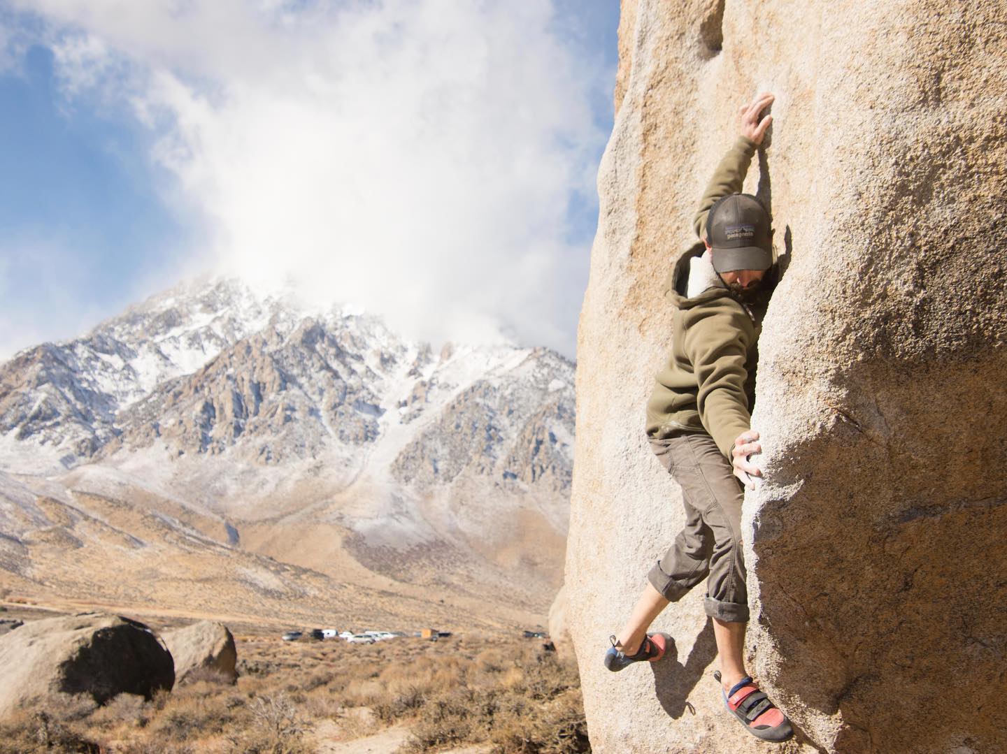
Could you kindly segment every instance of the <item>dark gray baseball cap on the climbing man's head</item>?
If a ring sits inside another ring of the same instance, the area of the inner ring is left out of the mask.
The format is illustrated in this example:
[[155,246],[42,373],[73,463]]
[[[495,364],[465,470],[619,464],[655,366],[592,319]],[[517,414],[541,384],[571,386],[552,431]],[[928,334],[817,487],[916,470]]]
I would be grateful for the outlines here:
[[750,193],[732,193],[718,199],[706,217],[706,237],[717,272],[772,267],[769,215]]

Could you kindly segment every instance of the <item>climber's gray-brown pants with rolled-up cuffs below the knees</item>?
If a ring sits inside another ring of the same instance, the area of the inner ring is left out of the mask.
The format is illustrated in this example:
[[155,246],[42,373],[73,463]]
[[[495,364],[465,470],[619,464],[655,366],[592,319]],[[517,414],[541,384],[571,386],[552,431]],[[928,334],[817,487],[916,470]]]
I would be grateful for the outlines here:
[[707,434],[651,440],[662,465],[682,487],[686,524],[648,574],[654,588],[678,602],[707,579],[706,614],[748,620],[748,589],[741,545],[744,486]]

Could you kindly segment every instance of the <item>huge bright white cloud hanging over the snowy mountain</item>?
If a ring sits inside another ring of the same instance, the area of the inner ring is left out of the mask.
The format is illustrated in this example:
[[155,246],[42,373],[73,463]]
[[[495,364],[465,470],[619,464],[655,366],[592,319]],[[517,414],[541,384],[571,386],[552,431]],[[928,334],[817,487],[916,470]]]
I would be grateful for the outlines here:
[[603,85],[549,0],[30,5],[67,92],[157,132],[207,266],[416,336],[572,354],[587,249],[567,207],[594,190]]

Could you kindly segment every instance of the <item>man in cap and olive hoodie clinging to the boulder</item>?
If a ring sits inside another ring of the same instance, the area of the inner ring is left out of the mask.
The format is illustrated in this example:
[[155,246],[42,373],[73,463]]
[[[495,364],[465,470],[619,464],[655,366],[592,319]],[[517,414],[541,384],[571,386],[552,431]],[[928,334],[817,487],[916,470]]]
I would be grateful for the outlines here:
[[695,215],[702,244],[676,260],[666,295],[674,307],[671,353],[646,406],[654,452],[682,488],[686,523],[648,574],[650,582],[628,622],[605,653],[621,670],[662,658],[671,640],[646,633],[669,603],[707,579],[704,607],[713,620],[727,709],[752,735],[785,741],[789,721],[758,690],[744,667],[748,593],[741,544],[744,487],[762,475],[749,457],[760,453],[750,427],[756,343],[776,281],[769,216],[759,200],[739,193],[752,155],[772,116],[773,96],[741,108],[741,134],[713,174]]

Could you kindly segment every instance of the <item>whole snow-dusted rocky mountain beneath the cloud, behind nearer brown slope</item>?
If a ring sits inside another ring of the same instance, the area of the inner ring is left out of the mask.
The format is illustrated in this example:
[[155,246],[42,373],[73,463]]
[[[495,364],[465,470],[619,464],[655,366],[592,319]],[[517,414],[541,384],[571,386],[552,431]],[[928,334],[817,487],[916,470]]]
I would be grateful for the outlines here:
[[323,573],[339,550],[357,576],[538,606],[560,579],[573,370],[191,281],[0,363],[0,471],[172,499]]

